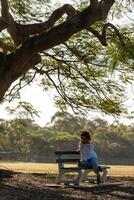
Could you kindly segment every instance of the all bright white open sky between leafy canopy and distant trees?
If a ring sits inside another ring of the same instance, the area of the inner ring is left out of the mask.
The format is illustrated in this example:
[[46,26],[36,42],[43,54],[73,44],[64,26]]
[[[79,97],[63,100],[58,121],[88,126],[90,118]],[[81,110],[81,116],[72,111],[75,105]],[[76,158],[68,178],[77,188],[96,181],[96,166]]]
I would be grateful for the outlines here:
[[[61,0],[63,3],[69,3],[71,0]],[[127,90],[129,100],[126,102],[127,107],[131,111],[132,108],[134,108],[134,92],[133,88],[129,87]],[[34,83],[31,87],[27,86],[22,89],[21,91],[21,99],[19,101],[27,101],[33,105],[33,107],[40,111],[39,115],[40,117],[35,117],[35,122],[39,124],[40,126],[45,126],[47,123],[50,122],[51,117],[54,115],[56,111],[58,111],[58,108],[54,105],[53,101],[54,94],[52,92],[43,91],[42,88],[40,88],[36,83]],[[0,118],[2,119],[11,119],[14,116],[10,116],[9,113],[5,111],[5,107],[15,107],[16,101],[10,104],[4,103],[0,106]],[[116,119],[114,117],[110,117],[107,115],[104,115],[99,112],[89,112],[88,118],[94,119],[94,118],[103,118],[107,120],[109,123],[112,123]],[[120,122],[125,124],[131,124],[133,123],[133,120],[129,120],[123,117],[120,117]]]

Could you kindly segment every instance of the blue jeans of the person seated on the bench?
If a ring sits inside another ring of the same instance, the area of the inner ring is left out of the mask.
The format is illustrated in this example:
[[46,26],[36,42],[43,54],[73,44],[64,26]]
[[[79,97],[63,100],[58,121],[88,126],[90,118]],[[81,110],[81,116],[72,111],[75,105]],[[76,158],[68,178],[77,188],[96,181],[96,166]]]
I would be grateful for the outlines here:
[[95,173],[98,172],[98,162],[96,158],[90,158],[81,162],[82,167],[91,168]]

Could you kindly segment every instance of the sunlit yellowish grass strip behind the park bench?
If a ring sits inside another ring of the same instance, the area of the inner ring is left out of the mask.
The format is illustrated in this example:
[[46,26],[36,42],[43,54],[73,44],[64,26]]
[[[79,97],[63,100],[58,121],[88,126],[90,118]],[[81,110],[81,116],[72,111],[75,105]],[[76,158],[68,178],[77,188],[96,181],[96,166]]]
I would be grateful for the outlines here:
[[[134,166],[109,165],[110,176],[134,177]],[[0,169],[8,169],[24,173],[57,174],[58,166],[55,163],[31,163],[31,162],[0,162]]]

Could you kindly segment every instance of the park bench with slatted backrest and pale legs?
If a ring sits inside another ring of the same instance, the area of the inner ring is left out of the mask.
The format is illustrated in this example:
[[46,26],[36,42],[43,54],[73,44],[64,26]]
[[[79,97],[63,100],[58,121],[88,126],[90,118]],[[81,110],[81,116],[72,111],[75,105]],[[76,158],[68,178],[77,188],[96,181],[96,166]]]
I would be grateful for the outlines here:
[[[58,175],[56,177],[56,183],[74,184],[79,185],[81,182],[88,180],[88,173],[93,172],[93,169],[79,167],[80,153],[78,151],[56,151],[56,162],[58,163]],[[67,164],[71,164],[70,166]],[[72,166],[74,165],[74,166]],[[101,172],[100,182],[104,183],[107,175],[109,166],[99,165]],[[64,180],[64,176],[68,173],[75,172],[77,174],[74,180]],[[97,176],[97,175],[96,175]],[[96,177],[97,178],[97,177]]]

